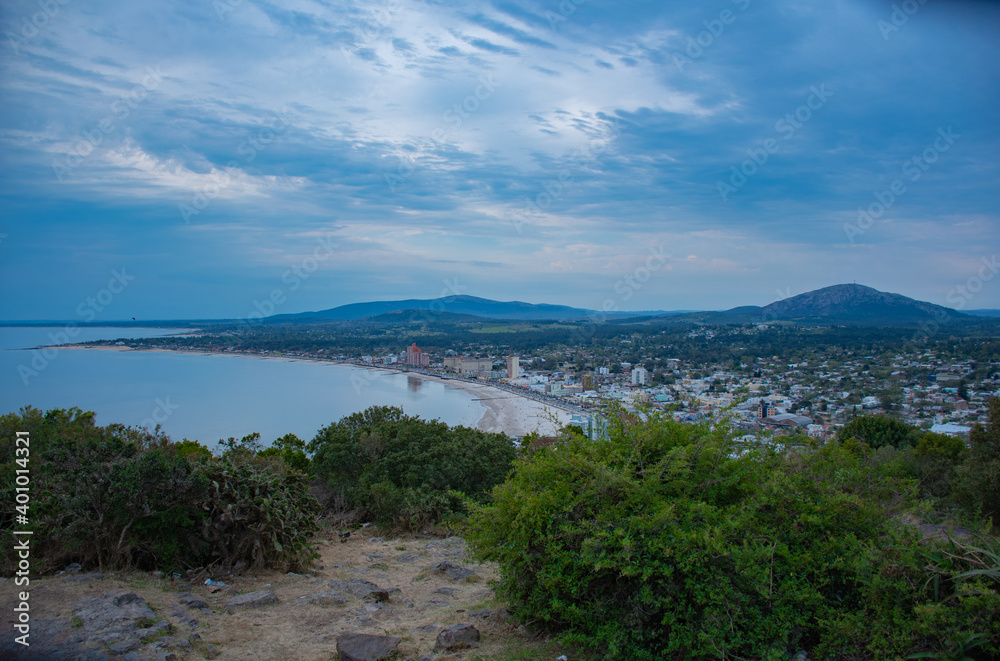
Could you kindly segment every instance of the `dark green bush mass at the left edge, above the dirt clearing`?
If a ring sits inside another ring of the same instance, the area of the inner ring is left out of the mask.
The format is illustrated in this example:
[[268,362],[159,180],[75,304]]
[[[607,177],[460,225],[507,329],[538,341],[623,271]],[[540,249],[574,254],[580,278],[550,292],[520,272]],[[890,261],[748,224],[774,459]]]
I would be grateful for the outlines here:
[[[32,569],[298,566],[314,555],[305,475],[247,453],[211,456],[190,441],[80,409],[0,417],[0,480],[14,501],[14,438],[30,432]],[[0,515],[0,573],[13,571],[13,512]],[[19,527],[20,529],[20,527]]]

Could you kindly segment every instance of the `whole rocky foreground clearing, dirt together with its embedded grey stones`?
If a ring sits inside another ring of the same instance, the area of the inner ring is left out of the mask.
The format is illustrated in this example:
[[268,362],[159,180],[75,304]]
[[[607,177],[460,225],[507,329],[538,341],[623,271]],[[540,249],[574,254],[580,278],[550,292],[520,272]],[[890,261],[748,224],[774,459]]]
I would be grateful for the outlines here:
[[72,567],[33,578],[29,648],[13,640],[23,588],[7,580],[0,658],[374,661],[395,652],[391,658],[485,661],[567,653],[510,621],[487,583],[493,568],[472,562],[464,540],[366,530],[346,543],[329,531],[306,574],[102,575]]

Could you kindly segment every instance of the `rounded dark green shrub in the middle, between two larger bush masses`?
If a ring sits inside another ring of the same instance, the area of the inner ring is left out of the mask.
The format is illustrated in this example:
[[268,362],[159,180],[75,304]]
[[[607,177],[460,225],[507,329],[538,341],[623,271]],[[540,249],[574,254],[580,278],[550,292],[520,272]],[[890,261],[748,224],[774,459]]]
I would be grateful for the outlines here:
[[515,455],[503,434],[449,427],[387,406],[324,427],[309,450],[317,477],[344,507],[405,528],[460,511],[464,497],[484,499]]

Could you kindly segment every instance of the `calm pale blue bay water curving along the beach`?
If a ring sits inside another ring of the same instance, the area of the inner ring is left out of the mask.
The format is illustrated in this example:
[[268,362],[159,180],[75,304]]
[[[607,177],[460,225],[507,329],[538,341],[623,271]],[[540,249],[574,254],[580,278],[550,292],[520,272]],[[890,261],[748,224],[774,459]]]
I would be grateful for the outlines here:
[[[316,431],[368,406],[400,406],[410,415],[474,426],[482,404],[472,395],[416,376],[346,365],[139,351],[49,349],[60,328],[0,328],[0,414],[22,406],[78,406],[98,424],[155,426],[209,446],[260,432],[267,444],[289,432]],[[161,328],[79,329],[74,342],[152,337]],[[55,337],[53,337],[55,336]],[[20,368],[20,371],[19,371]]]

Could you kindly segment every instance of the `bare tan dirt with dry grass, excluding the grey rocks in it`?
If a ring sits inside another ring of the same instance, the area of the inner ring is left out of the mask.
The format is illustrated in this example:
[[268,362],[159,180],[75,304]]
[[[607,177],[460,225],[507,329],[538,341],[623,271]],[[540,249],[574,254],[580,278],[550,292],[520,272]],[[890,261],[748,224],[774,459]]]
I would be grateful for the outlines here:
[[[198,621],[194,632],[201,640],[191,650],[169,650],[177,659],[329,661],[338,658],[337,636],[342,633],[399,636],[399,658],[418,659],[434,653],[435,639],[443,627],[463,622],[480,631],[481,647],[441,653],[435,659],[556,659],[565,653],[555,643],[530,639],[523,628],[508,619],[488,584],[495,569],[468,558],[460,538],[380,537],[379,531],[365,528],[354,531],[346,543],[341,543],[338,532],[327,529],[320,537],[321,557],[307,574],[216,576],[226,584],[216,592],[209,591],[202,576],[187,580],[135,572],[106,573],[102,579],[82,582],[65,582],[65,576],[33,578],[32,618],[72,619],[73,606],[84,597],[134,591],[158,617],[174,625],[173,635],[190,633],[191,627],[180,623],[171,610],[178,604],[178,595],[189,591],[207,601],[210,610],[190,611]],[[443,561],[475,573],[459,579],[449,577],[433,568]],[[347,596],[344,604],[307,601],[310,595],[330,592],[328,583],[334,579],[375,583],[389,591],[389,601],[358,599],[348,593],[342,593]],[[0,609],[4,621],[11,621],[4,626],[5,638],[13,635],[11,613],[19,589],[12,580],[0,584]],[[226,612],[226,601],[236,593],[258,590],[273,590],[278,603]],[[152,650],[137,653],[156,658]]]

